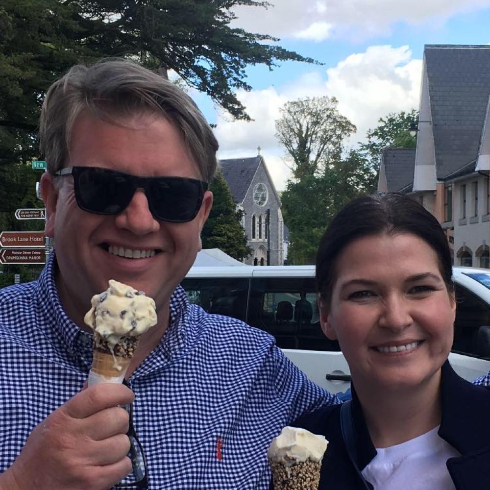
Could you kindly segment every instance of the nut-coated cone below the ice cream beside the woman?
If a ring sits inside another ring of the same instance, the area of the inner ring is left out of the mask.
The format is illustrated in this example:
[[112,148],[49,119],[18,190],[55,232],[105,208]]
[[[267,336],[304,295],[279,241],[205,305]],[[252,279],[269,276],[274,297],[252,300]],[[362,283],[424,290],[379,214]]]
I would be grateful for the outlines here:
[[307,459],[291,466],[270,461],[274,490],[318,490],[321,463]]

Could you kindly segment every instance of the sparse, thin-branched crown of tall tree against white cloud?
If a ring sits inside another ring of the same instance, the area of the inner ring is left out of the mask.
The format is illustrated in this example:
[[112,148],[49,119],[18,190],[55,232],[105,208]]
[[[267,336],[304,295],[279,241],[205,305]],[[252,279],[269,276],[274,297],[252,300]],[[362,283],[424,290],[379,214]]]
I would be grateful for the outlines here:
[[293,160],[293,175],[316,175],[338,160],[343,139],[356,130],[337,110],[337,99],[313,97],[286,102],[276,121],[276,136]]

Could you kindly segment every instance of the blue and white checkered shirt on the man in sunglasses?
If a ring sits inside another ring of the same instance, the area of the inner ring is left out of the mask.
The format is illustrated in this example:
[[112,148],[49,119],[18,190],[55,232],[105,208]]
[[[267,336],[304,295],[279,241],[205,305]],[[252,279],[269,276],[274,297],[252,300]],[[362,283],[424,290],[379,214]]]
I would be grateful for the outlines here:
[[[38,281],[0,290],[0,471],[82,389],[91,366],[92,337],[64,312],[55,264],[51,254]],[[338,402],[270,335],[190,305],[180,287],[167,332],[129,385],[152,490],[268,489],[271,439],[301,414]]]

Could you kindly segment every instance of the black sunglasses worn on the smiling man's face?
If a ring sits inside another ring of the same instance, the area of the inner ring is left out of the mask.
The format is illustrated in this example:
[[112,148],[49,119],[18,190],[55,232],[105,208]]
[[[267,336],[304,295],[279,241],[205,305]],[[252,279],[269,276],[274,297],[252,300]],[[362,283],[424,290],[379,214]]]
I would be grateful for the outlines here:
[[144,189],[151,214],[160,221],[185,223],[196,218],[206,182],[187,177],[137,177],[98,167],[67,167],[54,175],[73,175],[78,207],[89,213],[117,215]]

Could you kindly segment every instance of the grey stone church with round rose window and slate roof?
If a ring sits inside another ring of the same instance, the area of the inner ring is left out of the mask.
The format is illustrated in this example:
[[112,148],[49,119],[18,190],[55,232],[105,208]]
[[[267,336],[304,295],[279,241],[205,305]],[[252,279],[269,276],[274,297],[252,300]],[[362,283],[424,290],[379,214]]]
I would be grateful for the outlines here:
[[220,166],[237,207],[244,211],[242,226],[253,250],[245,264],[283,265],[286,255],[281,200],[264,158],[232,158],[221,160]]

